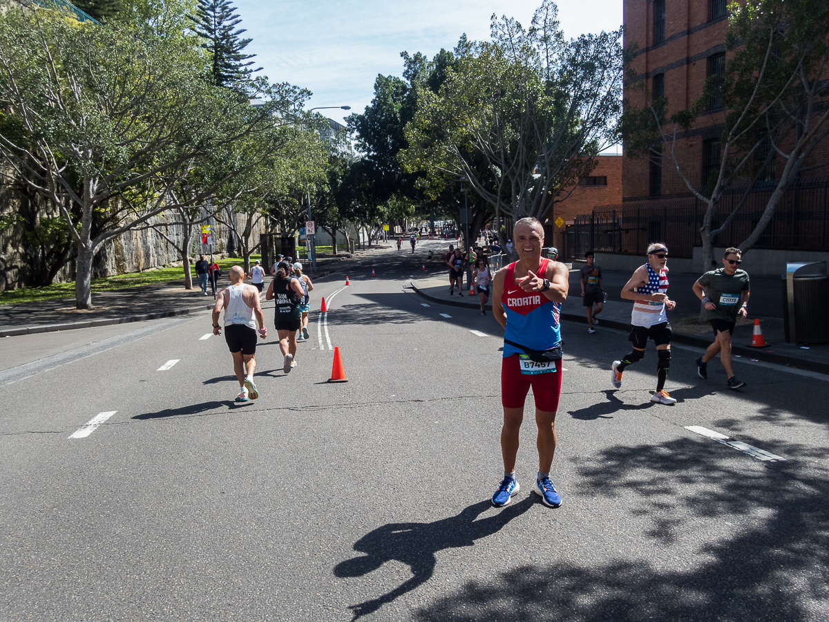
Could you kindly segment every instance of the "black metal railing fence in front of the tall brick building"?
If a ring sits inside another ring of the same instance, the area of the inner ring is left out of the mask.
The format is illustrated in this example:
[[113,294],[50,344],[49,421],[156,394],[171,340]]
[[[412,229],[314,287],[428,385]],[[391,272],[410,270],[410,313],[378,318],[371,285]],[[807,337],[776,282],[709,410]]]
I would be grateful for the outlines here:
[[[774,187],[759,187],[715,237],[720,247],[738,246],[757,226]],[[726,192],[711,225],[718,228],[740,200],[744,190]],[[829,250],[829,177],[802,178],[783,194],[754,248]],[[565,260],[583,257],[588,250],[621,255],[644,255],[647,245],[664,242],[671,256],[691,258],[702,245],[700,228],[705,204],[695,197],[656,199],[596,207],[580,214],[565,230]]]

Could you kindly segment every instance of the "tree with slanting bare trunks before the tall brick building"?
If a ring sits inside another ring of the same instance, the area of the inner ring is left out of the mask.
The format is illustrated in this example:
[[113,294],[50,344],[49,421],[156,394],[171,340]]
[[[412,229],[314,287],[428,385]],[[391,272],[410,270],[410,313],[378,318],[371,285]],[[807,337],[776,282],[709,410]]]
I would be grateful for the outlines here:
[[[749,250],[763,234],[800,173],[827,164],[818,146],[829,135],[829,5],[817,0],[749,0],[729,6],[726,47],[732,53],[723,75],[712,75],[690,109],[668,114],[670,99],[655,98],[644,81],[637,86],[645,105],[626,102],[623,134],[628,155],[667,158],[685,187],[705,206],[701,226],[703,265],[714,259],[715,238],[744,207],[761,177],[774,177],[773,192],[749,236]],[[721,114],[720,165],[696,183],[696,167],[681,158],[681,138],[712,95]],[[779,160],[783,165],[776,165]],[[775,170],[778,169],[778,170]],[[715,213],[724,192],[742,187],[736,207],[719,226]],[[768,186],[767,186],[768,187]]]

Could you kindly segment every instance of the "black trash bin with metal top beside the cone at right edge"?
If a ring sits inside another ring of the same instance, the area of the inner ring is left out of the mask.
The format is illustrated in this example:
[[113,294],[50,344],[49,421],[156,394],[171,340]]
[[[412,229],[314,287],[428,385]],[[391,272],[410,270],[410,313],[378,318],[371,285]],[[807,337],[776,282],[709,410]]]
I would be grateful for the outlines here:
[[[797,343],[829,343],[829,275],[826,264],[802,264],[800,268],[789,264],[793,274],[794,333]],[[792,270],[795,268],[795,270]],[[783,275],[783,333],[787,343],[792,343],[791,313],[788,292],[788,275]]]

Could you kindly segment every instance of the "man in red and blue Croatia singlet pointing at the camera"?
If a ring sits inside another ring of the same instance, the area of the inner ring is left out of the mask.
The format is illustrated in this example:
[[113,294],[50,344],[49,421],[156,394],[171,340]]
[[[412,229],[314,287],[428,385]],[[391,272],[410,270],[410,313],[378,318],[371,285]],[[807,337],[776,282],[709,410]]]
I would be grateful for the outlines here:
[[[561,393],[560,312],[569,289],[568,271],[555,260],[541,258],[544,227],[535,218],[521,218],[512,232],[518,260],[498,270],[492,279],[492,315],[504,328],[501,365],[501,401],[504,424],[501,453],[504,479],[492,495],[502,507],[521,487],[516,480],[519,433],[524,401],[532,386],[538,426],[538,474],[533,492],[550,508],[561,496],[550,481],[555,453],[555,413]],[[540,356],[541,352],[544,356]],[[539,362],[535,359],[545,359]],[[555,360],[555,359],[558,360]]]

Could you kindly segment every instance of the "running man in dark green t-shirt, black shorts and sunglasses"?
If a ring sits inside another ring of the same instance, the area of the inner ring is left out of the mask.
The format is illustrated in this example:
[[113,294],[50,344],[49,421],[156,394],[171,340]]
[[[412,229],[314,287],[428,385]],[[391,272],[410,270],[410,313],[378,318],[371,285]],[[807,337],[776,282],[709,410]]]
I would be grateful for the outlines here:
[[[739,270],[738,267],[742,263],[741,256],[738,248],[725,249],[723,267],[706,272],[694,284],[694,294],[705,304],[705,309],[710,311],[711,328],[714,329],[716,337],[715,342],[705,350],[705,354],[696,359],[696,372],[701,378],[707,379],[708,362],[720,352],[720,362],[728,376],[728,386],[731,389],[745,386],[745,382],[734,377],[734,369],[731,367],[731,335],[734,333],[737,318],[744,318],[749,313],[751,294],[749,273]],[[705,294],[703,288],[708,290],[708,294]]]

